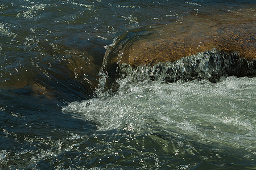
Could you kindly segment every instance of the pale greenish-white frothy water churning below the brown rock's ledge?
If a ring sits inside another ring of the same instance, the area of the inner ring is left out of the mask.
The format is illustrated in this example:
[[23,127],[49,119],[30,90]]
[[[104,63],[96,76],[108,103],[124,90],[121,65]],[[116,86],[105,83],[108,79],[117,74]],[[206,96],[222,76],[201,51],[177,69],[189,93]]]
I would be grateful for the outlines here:
[[98,130],[164,131],[199,142],[228,143],[252,150],[256,139],[256,78],[228,77],[162,83],[119,80],[118,94],[73,102],[63,112],[83,114]]

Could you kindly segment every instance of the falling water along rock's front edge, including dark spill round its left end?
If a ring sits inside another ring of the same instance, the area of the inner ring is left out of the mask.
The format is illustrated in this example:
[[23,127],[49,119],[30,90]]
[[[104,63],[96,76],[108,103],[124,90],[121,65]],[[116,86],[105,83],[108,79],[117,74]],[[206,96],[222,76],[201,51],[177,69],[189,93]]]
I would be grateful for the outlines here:
[[256,61],[241,58],[238,52],[212,50],[183,57],[175,62],[158,62],[154,66],[140,65],[132,67],[126,63],[108,63],[107,51],[105,62],[100,71],[101,91],[117,91],[117,79],[129,76],[133,81],[160,80],[176,82],[177,80],[209,80],[216,83],[227,76],[255,76]]

